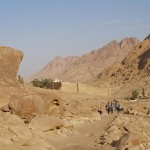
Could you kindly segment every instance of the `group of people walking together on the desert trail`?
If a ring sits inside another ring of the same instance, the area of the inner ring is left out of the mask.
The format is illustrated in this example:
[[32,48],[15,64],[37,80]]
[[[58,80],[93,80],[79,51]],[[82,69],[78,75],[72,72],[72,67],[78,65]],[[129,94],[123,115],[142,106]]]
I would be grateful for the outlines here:
[[[108,102],[105,106],[105,109],[107,111],[108,114],[110,113],[114,113],[114,111],[117,111],[118,114],[120,113],[120,111],[123,110],[123,108],[121,107],[120,103],[117,100],[114,100],[112,102]],[[101,106],[99,106],[98,108],[98,112],[100,113],[100,115],[103,114],[102,108]]]

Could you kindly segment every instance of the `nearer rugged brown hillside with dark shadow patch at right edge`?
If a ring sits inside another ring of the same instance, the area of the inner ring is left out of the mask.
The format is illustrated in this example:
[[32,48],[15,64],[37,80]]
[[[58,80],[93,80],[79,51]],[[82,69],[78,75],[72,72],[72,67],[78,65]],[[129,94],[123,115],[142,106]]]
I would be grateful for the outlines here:
[[[120,64],[102,72],[94,85],[112,87],[118,93],[145,88],[150,92],[150,38],[139,43]],[[142,91],[142,90],[141,90]]]

